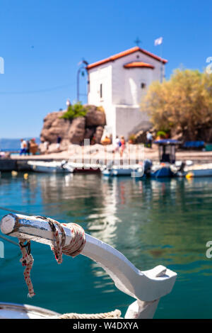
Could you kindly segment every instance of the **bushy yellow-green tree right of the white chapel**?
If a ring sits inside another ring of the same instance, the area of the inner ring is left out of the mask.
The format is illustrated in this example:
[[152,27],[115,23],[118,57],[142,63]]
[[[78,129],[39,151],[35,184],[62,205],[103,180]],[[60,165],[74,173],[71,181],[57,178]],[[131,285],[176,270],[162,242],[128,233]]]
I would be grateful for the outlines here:
[[212,128],[212,75],[175,70],[169,81],[153,82],[141,104],[156,130],[179,130],[189,140]]

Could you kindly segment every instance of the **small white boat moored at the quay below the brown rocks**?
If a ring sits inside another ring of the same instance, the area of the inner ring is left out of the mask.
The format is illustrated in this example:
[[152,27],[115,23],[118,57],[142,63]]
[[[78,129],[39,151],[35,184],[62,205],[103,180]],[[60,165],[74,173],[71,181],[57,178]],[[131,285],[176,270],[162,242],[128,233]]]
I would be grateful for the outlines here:
[[36,172],[49,172],[49,173],[69,173],[73,172],[72,166],[68,164],[67,161],[28,161],[28,165],[30,165],[32,171]]

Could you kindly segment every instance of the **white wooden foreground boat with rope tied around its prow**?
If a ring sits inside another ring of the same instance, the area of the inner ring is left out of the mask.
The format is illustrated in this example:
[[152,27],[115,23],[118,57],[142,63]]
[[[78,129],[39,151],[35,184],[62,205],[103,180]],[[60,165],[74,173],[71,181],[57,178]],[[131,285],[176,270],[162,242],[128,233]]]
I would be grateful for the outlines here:
[[[25,266],[24,276],[30,297],[34,295],[33,283],[30,279],[30,270],[33,266],[33,257],[30,253],[31,241],[50,245],[59,264],[62,261],[62,254],[67,256],[82,254],[102,266],[119,290],[135,298],[134,303],[126,310],[125,319],[152,318],[160,298],[170,293],[175,284],[177,273],[174,271],[161,265],[148,271],[140,271],[122,253],[109,244],[86,234],[82,227],[75,223],[64,224],[52,218],[9,213],[1,219],[0,229],[5,236],[10,235],[19,239],[23,254],[21,262]],[[57,290],[54,292],[57,293]],[[119,310],[106,314],[61,315],[40,307],[13,303],[0,304],[0,317],[10,319],[122,318]]]

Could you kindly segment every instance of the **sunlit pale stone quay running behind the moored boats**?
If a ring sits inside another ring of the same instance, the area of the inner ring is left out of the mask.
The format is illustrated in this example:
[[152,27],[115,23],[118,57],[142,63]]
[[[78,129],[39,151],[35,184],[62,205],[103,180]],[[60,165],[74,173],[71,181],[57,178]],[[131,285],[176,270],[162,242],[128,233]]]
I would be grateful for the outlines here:
[[[98,147],[95,147],[98,146]],[[126,160],[129,160],[129,154],[124,154],[120,157],[119,154],[114,154],[112,152],[112,145],[109,145],[107,149],[107,156],[105,156],[104,150],[100,149],[100,145],[91,146],[90,152],[73,152],[70,150],[63,152],[52,152],[50,154],[36,154],[30,156],[20,156],[19,154],[13,154],[10,158],[0,159],[0,171],[30,171],[29,161],[46,161],[61,162],[63,160],[69,160],[69,162],[81,162],[81,163],[96,163],[101,162],[102,165],[107,165],[110,162],[113,164],[120,163],[121,165]],[[152,149],[143,147],[138,149],[141,145],[133,145],[134,151],[130,156],[131,164],[142,162],[143,159],[151,159],[153,163],[158,162],[158,147],[153,145]],[[137,146],[137,147],[136,147]],[[177,161],[191,160],[194,164],[211,163],[212,162],[212,152],[204,151],[184,151],[177,150],[176,152]],[[130,162],[129,160],[129,162]]]

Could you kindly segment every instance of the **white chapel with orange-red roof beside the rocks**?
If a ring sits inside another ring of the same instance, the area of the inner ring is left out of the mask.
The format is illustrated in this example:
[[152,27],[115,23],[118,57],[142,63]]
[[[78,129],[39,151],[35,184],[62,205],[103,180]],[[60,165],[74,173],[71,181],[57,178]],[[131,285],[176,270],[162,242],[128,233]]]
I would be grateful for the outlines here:
[[88,104],[105,109],[107,134],[114,138],[138,128],[150,128],[148,115],[141,113],[141,99],[153,81],[165,74],[167,60],[132,47],[104,60],[88,64]]

